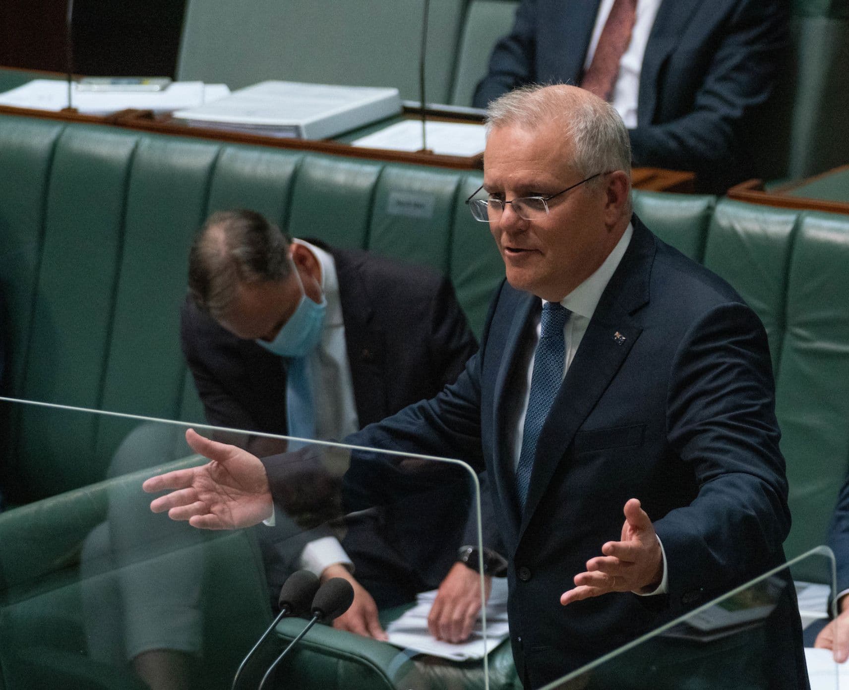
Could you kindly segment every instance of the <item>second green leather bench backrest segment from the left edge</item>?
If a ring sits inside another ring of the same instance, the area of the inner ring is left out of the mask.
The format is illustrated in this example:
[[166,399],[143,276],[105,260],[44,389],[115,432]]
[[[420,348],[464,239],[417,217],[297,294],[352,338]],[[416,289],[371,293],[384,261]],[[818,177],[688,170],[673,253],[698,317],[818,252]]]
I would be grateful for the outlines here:
[[[45,228],[20,395],[98,407],[118,277],[124,199],[138,135],[79,126],[59,137],[48,171]],[[89,462],[95,428],[87,418],[43,424],[41,410],[20,419],[24,485],[42,496],[103,478]],[[79,421],[78,421],[79,420]],[[55,449],[68,458],[53,463]]]

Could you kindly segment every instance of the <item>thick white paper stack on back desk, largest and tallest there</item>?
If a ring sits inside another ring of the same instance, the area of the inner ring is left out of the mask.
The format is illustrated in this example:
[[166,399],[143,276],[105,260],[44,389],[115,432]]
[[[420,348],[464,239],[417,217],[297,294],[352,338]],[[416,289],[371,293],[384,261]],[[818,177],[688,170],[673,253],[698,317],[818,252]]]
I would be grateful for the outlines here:
[[396,88],[262,81],[214,104],[180,110],[174,117],[205,126],[323,139],[400,112]]

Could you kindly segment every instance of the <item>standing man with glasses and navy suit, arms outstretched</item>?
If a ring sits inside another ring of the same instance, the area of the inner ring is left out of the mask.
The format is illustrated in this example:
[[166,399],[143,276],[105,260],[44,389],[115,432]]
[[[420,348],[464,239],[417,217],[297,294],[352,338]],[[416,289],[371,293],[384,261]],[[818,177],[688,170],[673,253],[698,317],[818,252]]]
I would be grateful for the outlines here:
[[[348,440],[486,467],[514,659],[541,687],[783,563],[787,482],[762,324],[633,216],[616,110],[576,87],[514,91],[490,105],[484,160],[469,205],[507,279],[481,349],[435,398]],[[209,463],[148,480],[177,489],[151,508],[206,528],[265,519],[280,460],[187,438],[255,490],[228,499]],[[408,484],[360,460],[351,508]],[[765,629],[782,659],[756,670],[770,687],[807,687],[789,615]]]

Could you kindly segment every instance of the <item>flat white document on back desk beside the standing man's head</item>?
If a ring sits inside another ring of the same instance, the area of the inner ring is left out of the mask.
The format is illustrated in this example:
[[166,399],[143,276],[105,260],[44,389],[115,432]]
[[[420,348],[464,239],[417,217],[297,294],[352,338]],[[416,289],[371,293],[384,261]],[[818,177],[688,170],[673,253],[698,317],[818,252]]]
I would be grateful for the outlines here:
[[[426,125],[427,148],[440,155],[473,156],[486,147],[486,128],[466,122],[435,122]],[[404,120],[351,142],[353,146],[392,151],[419,151],[422,148],[422,123]]]

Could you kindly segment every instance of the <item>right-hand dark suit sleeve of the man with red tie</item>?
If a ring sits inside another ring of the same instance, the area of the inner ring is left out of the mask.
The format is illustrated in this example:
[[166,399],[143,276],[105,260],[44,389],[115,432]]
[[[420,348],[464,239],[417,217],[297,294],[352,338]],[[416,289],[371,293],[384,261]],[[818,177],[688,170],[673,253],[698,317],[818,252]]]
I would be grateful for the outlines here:
[[707,188],[724,183],[722,191],[739,182],[723,180],[724,171],[751,167],[745,142],[753,132],[746,126],[773,93],[789,49],[784,0],[739,3],[689,113],[631,130],[634,165],[694,170]]

